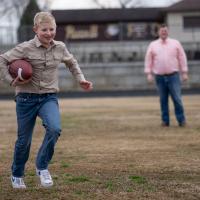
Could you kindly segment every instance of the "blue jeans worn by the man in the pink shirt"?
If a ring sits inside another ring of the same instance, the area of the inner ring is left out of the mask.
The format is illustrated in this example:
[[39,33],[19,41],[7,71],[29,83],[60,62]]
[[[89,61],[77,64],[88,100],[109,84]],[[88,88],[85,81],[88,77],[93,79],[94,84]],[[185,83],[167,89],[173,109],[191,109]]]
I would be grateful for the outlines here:
[[174,112],[179,124],[185,122],[184,108],[181,100],[181,81],[179,73],[171,75],[156,75],[156,84],[160,95],[160,107],[162,113],[162,121],[167,125],[170,124],[169,117],[169,95],[174,104]]

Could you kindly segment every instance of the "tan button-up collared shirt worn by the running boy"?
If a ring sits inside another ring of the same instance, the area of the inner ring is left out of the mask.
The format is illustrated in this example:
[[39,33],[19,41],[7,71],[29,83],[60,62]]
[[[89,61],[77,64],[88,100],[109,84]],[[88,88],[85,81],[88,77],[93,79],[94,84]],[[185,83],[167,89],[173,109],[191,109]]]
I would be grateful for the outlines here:
[[65,63],[77,81],[85,80],[76,59],[69,53],[65,44],[53,41],[46,49],[42,46],[37,36],[27,42],[0,55],[0,79],[8,83],[12,77],[8,73],[8,65],[13,60],[25,59],[33,67],[32,79],[29,83],[16,86],[16,94],[26,93],[52,93],[58,92],[58,65]]

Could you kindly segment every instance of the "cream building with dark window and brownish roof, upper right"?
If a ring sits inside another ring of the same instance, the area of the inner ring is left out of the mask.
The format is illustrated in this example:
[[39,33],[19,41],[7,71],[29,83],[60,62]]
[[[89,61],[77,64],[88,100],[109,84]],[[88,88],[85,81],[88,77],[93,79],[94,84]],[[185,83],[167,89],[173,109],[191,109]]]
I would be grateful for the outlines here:
[[200,42],[200,0],[183,0],[167,9],[170,34],[181,42]]

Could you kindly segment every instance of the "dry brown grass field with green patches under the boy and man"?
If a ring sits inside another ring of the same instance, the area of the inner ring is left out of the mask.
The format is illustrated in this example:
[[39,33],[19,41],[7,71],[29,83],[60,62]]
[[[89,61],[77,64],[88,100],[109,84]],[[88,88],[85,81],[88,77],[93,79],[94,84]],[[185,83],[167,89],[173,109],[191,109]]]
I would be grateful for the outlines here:
[[41,188],[34,160],[40,119],[26,165],[26,190],[10,184],[16,139],[14,101],[0,101],[0,200],[200,199],[200,96],[184,96],[187,126],[160,127],[158,97],[60,99],[62,136]]

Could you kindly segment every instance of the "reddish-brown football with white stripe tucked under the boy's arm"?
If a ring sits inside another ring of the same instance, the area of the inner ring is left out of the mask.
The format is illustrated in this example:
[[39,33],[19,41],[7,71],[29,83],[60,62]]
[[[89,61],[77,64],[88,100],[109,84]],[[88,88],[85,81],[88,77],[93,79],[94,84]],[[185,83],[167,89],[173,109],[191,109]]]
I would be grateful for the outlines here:
[[14,60],[10,63],[8,71],[12,78],[19,76],[21,81],[28,80],[32,76],[32,65],[26,60]]

